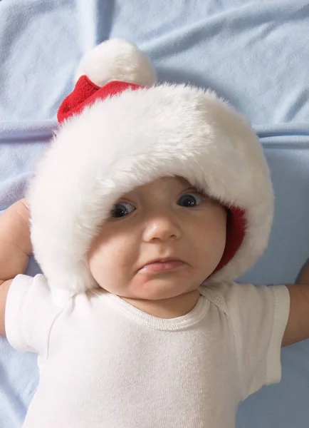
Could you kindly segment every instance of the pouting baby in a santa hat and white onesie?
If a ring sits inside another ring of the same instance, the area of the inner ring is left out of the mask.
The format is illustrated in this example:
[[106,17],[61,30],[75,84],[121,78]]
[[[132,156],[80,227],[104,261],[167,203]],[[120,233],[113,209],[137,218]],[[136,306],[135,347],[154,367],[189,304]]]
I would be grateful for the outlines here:
[[[77,77],[0,217],[0,333],[40,355],[24,427],[234,427],[309,337],[308,285],[234,282],[273,217],[258,139],[214,93],[152,86],[126,41]],[[43,275],[20,275],[32,250]]]

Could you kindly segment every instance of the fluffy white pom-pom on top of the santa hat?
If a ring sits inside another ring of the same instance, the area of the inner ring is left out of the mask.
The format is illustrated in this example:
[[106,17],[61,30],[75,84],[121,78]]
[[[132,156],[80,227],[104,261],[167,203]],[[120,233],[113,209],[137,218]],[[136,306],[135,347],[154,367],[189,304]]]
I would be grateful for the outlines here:
[[86,52],[76,71],[76,81],[84,74],[98,86],[110,81],[152,86],[157,80],[149,58],[135,44],[122,39],[104,41]]

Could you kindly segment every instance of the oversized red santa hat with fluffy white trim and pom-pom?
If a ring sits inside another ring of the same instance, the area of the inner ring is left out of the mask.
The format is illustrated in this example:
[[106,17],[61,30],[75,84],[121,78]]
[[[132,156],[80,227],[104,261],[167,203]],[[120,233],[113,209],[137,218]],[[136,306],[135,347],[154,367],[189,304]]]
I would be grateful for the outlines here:
[[77,78],[28,192],[33,252],[51,287],[95,287],[87,252],[99,226],[124,193],[163,176],[228,208],[226,249],[208,282],[251,267],[268,243],[273,190],[247,121],[211,91],[154,85],[147,56],[127,41],[85,54]]

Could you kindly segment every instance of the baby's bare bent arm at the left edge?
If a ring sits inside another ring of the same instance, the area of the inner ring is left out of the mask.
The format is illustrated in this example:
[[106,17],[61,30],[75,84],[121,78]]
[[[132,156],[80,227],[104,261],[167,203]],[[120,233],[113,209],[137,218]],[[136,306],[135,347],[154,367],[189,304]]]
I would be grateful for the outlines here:
[[24,273],[31,255],[29,210],[21,199],[0,214],[0,335],[5,336],[6,296],[12,280]]

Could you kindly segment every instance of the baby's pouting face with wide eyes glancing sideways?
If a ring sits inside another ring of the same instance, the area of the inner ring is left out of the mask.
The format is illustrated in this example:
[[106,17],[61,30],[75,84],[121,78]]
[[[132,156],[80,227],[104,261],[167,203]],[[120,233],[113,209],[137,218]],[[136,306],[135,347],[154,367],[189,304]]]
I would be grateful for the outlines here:
[[[226,210],[183,178],[159,178],[117,202],[88,253],[100,287],[161,300],[196,290],[219,264]],[[178,261],[152,263],[170,258]]]

